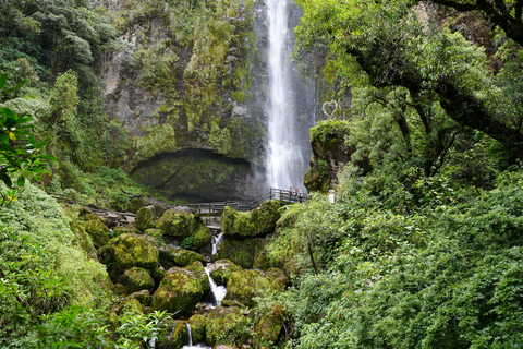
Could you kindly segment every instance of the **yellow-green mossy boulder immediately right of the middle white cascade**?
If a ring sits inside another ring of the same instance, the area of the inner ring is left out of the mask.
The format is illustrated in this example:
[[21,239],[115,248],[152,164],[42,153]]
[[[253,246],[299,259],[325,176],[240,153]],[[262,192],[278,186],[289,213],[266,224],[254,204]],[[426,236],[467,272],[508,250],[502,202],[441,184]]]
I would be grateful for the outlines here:
[[227,284],[224,300],[238,301],[246,306],[254,308],[255,297],[262,297],[268,292],[283,292],[287,276],[282,270],[272,268],[267,272],[250,269],[239,270],[231,274]]

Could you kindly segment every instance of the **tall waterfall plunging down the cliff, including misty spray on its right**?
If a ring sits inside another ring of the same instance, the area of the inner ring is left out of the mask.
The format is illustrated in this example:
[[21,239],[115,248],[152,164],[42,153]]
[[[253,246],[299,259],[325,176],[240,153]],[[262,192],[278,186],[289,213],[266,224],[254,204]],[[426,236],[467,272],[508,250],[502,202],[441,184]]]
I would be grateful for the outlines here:
[[[267,0],[269,98],[267,178],[271,188],[302,186],[309,151],[309,120],[301,120],[304,96],[291,63],[290,0]],[[295,86],[296,85],[296,86]],[[306,104],[306,103],[305,103]],[[299,106],[302,105],[302,106]],[[311,118],[306,118],[311,119]],[[313,116],[314,119],[314,116]],[[303,134],[305,133],[305,134]],[[303,142],[305,141],[305,142]]]

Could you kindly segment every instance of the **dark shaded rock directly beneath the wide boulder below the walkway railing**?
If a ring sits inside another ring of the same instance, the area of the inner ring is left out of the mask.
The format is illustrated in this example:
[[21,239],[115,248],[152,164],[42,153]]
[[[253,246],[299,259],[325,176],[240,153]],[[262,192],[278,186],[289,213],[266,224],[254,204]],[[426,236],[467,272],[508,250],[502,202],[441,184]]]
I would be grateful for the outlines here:
[[265,239],[235,240],[224,238],[217,246],[212,261],[229,260],[241,267],[253,267],[256,254],[263,251],[267,241]]

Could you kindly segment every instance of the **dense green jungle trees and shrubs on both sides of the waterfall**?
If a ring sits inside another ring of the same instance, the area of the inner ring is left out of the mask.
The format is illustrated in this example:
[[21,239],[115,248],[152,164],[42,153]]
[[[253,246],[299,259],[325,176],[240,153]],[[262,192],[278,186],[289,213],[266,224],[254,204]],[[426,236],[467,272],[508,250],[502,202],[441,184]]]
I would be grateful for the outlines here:
[[[353,154],[337,203],[289,207],[265,248],[291,276],[259,300],[284,313],[271,346],[522,348],[522,2],[297,2],[295,59],[314,61],[325,100],[351,99],[312,132],[343,130]],[[34,167],[0,164],[5,348],[139,348],[166,327],[163,313],[130,312],[109,328],[104,266],[82,251],[73,212],[38,188],[114,205],[129,200],[115,183],[145,190],[117,169],[127,135],[98,96],[97,62],[118,45],[106,11],[0,2],[1,155],[20,155],[21,140],[48,155],[36,184]]]

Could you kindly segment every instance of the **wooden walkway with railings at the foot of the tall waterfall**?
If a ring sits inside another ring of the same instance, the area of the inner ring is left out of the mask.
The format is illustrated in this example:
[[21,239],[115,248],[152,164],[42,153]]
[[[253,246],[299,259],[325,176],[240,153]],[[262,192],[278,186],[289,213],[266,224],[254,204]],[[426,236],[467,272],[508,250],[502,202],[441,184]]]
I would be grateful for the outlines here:
[[307,194],[297,194],[295,195],[289,190],[282,189],[270,189],[270,191],[254,201],[242,202],[242,201],[226,201],[226,202],[214,202],[214,203],[197,203],[197,204],[185,204],[183,206],[188,207],[191,213],[205,217],[205,216],[219,216],[223,213],[226,206],[229,206],[235,210],[247,212],[257,208],[263,202],[268,200],[279,200],[283,203],[303,203],[311,200],[311,196]]

